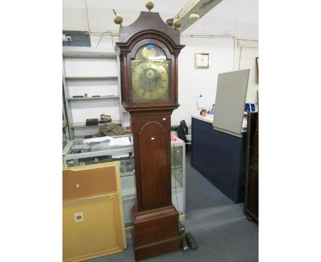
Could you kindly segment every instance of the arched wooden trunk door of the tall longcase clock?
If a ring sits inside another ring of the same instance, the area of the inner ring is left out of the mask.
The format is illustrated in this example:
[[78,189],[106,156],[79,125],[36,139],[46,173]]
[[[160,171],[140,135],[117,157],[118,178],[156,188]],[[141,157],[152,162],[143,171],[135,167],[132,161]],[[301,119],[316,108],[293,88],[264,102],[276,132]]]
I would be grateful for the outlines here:
[[[167,132],[158,122],[148,122],[139,132],[143,209],[167,204]],[[170,165],[170,164],[169,164]]]

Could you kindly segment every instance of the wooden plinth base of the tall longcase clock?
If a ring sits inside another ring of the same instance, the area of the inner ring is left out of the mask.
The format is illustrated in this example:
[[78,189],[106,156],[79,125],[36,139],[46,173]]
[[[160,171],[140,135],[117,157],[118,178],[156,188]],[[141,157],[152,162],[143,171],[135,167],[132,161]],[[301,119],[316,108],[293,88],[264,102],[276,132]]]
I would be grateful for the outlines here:
[[136,261],[180,250],[179,217],[174,206],[137,212],[134,204],[132,218]]

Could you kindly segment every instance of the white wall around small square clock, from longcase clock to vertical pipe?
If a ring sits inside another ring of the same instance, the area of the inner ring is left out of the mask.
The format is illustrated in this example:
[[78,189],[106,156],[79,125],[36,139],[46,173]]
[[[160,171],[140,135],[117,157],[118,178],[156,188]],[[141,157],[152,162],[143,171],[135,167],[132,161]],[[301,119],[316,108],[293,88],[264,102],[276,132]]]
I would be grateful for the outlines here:
[[[215,104],[217,74],[233,71],[233,38],[181,38],[186,45],[178,60],[178,102],[171,124],[177,125],[185,119],[191,124],[191,115],[200,114],[196,97],[202,95],[206,109]],[[210,68],[195,69],[195,53],[210,53]]]

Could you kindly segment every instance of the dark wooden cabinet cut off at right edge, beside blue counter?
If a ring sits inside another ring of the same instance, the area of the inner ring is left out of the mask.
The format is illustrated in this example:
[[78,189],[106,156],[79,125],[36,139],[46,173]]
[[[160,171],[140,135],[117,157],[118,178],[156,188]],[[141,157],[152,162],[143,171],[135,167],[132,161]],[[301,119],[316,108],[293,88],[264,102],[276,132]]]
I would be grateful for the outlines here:
[[259,113],[248,113],[244,214],[259,222]]

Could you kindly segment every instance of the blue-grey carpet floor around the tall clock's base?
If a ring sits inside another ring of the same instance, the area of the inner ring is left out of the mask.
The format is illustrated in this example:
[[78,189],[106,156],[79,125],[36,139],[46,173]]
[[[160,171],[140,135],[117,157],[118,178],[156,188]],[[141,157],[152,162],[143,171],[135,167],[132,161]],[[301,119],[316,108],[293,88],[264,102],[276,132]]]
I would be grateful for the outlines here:
[[[190,164],[186,158],[185,232],[198,242],[198,250],[173,252],[146,262],[259,261],[259,228],[243,215],[243,204],[234,204]],[[124,252],[87,262],[134,262],[132,241]]]

